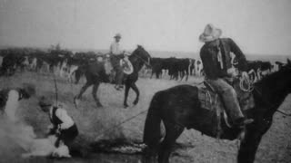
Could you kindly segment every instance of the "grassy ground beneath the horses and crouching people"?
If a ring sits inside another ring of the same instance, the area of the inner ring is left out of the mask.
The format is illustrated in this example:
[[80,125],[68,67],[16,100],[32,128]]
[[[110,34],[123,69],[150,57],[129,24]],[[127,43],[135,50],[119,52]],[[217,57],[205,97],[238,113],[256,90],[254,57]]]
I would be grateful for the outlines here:
[[[113,85],[101,84],[98,91],[100,101],[104,108],[95,108],[95,102],[91,96],[91,88],[88,89],[83,100],[76,110],[73,104],[74,95],[82,87],[82,82],[71,85],[64,79],[56,78],[58,87],[58,99],[65,103],[69,114],[74,118],[80,130],[79,141],[92,142],[98,139],[130,139],[142,141],[146,112],[119,126],[116,124],[126,120],[141,111],[147,110],[149,102],[156,91],[164,90],[171,86],[186,83],[168,80],[139,79],[137,86],[141,91],[140,102],[135,107],[123,109],[123,91],[115,91]],[[187,83],[200,82],[201,79],[191,78]],[[55,86],[51,74],[40,74],[34,72],[16,73],[9,78],[0,78],[0,88],[16,87],[22,82],[35,83],[37,96],[55,97]],[[130,91],[128,101],[131,103],[135,99],[135,94]],[[280,107],[280,110],[289,110],[291,97]],[[26,124],[35,129],[38,137],[44,137],[46,126],[49,124],[47,115],[37,107],[37,98],[22,101],[21,108],[17,111],[17,116]],[[1,127],[1,126],[0,126]],[[256,162],[291,162],[291,118],[284,117],[276,113],[271,129],[264,136],[256,154]],[[110,131],[104,132],[106,129]],[[1,134],[0,134],[1,135]],[[236,162],[236,142],[221,141],[201,135],[200,132],[190,129],[185,130],[177,140],[187,148],[177,149],[171,158],[172,162]],[[52,160],[48,158],[20,158],[23,149],[17,147],[9,139],[0,139],[0,162],[138,162],[140,156],[120,155],[120,154],[93,154],[88,158],[71,158]]]

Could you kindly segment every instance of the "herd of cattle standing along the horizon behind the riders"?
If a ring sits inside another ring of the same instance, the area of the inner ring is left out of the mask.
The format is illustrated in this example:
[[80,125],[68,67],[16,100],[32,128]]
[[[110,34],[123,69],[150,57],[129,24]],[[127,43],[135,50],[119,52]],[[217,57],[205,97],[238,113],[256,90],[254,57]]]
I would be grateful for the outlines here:
[[[72,82],[78,66],[96,62],[104,57],[102,53],[72,53],[67,50],[37,50],[37,49],[3,49],[0,50],[0,76],[12,75],[16,70],[34,72],[54,72],[61,77],[67,77]],[[236,59],[233,60],[236,66]],[[283,62],[248,61],[248,71],[254,81],[259,80],[269,72],[274,72],[284,66]],[[142,76],[165,78],[173,80],[188,80],[189,75],[203,76],[203,64],[200,60],[189,58],[152,58],[151,65],[145,66],[140,72]]]

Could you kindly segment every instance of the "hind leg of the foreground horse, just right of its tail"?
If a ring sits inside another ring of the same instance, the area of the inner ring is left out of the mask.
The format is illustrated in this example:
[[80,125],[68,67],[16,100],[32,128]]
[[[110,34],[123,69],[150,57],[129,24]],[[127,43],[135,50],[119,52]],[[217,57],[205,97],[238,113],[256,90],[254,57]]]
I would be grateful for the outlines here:
[[176,142],[176,139],[181,135],[184,128],[176,124],[165,123],[166,126],[166,137],[162,142],[161,148],[158,152],[158,162],[168,163],[171,150]]

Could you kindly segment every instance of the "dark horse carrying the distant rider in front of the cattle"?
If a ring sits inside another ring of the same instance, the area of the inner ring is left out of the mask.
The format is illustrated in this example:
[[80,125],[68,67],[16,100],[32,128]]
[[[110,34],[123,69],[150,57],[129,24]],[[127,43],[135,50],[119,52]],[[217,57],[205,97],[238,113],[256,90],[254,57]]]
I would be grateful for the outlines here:
[[[129,75],[125,75],[125,108],[128,107],[127,96],[130,89],[135,91],[136,97],[134,104],[136,105],[139,101],[139,90],[135,85],[135,82],[138,80],[138,72],[142,69],[144,64],[149,64],[151,56],[146,50],[141,46],[137,45],[135,51],[128,57],[129,61],[133,64],[134,72]],[[101,102],[99,101],[96,92],[101,82],[108,82],[108,75],[105,74],[105,65],[104,62],[93,62],[84,66],[80,66],[79,70],[76,71],[76,78],[80,78],[80,74],[77,72],[83,72],[85,74],[85,85],[82,87],[79,94],[75,97],[75,100],[78,100],[82,97],[82,94],[87,90],[88,87],[93,85],[92,95],[96,102],[97,107],[102,107]],[[76,79],[78,81],[79,79]],[[77,82],[76,82],[77,83]]]

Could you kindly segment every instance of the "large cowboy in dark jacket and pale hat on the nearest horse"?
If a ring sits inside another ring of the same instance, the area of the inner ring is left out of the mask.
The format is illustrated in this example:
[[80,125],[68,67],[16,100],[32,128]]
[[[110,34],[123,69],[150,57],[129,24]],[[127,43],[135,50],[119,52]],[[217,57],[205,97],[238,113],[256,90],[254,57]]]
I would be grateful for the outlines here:
[[247,78],[246,56],[236,43],[230,38],[219,38],[222,31],[213,24],[207,24],[199,40],[203,43],[200,57],[206,73],[206,82],[221,96],[226,106],[226,112],[237,127],[243,127],[252,123],[252,119],[246,119],[239,106],[236,91],[226,82],[227,78],[234,77],[231,65],[230,53],[236,55],[238,70]]

